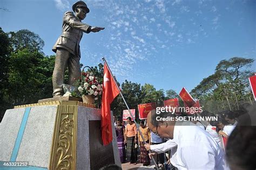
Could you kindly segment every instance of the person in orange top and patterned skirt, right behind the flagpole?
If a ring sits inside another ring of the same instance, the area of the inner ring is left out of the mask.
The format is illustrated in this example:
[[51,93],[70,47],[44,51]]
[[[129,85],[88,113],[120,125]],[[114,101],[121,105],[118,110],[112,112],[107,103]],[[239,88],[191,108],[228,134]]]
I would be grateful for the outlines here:
[[[139,130],[142,132],[142,135],[147,142],[147,144],[150,144],[150,130],[148,127],[145,126],[144,121],[140,121],[140,127]],[[146,150],[143,142],[143,138],[138,133],[138,139],[139,139],[139,145],[140,145],[140,163],[143,164],[143,166],[150,165],[150,158],[149,158],[149,152]]]

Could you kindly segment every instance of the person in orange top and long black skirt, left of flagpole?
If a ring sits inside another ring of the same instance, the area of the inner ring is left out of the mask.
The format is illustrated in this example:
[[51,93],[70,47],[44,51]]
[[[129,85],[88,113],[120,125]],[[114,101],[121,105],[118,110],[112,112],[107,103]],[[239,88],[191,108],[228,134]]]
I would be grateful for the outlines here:
[[135,147],[135,144],[137,144],[138,140],[138,132],[137,132],[137,126],[132,121],[131,117],[127,118],[127,125],[125,128],[125,142],[127,142],[127,160],[130,161],[130,164],[137,164],[137,147]]

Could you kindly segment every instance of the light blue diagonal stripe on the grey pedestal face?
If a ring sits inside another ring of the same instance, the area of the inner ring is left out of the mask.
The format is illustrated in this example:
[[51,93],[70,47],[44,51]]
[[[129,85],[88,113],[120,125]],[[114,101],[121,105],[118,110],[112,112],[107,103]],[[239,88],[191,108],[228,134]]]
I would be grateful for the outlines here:
[[29,118],[29,112],[30,112],[31,107],[26,107],[23,118],[22,118],[22,123],[21,126],[19,126],[19,131],[18,131],[18,135],[15,141],[15,145],[14,145],[14,149],[12,150],[11,153],[11,162],[15,162],[17,155],[18,155],[18,151],[19,151],[19,146],[21,145],[21,141],[22,141],[22,137],[25,131],[25,127],[26,127],[26,121],[28,121]]

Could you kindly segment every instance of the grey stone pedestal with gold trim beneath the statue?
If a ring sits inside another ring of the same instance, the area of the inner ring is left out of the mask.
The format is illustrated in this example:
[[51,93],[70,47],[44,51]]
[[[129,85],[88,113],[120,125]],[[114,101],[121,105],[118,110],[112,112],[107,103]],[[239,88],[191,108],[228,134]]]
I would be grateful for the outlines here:
[[0,124],[0,169],[10,161],[28,162],[31,169],[120,166],[113,123],[112,130],[113,141],[103,146],[100,110],[79,101],[17,106]]

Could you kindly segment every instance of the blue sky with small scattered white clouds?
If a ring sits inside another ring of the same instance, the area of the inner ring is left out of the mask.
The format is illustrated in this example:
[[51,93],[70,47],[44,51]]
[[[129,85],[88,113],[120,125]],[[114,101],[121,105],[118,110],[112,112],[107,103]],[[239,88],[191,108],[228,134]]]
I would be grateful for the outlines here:
[[[53,55],[63,14],[75,2],[1,0],[0,26],[5,32],[37,33],[45,55]],[[256,59],[256,1],[85,2],[90,13],[83,22],[105,30],[84,33],[80,62],[94,66],[104,56],[120,83],[127,79],[157,90],[190,91],[222,59]],[[251,69],[256,71],[255,62]]]

